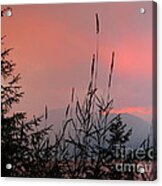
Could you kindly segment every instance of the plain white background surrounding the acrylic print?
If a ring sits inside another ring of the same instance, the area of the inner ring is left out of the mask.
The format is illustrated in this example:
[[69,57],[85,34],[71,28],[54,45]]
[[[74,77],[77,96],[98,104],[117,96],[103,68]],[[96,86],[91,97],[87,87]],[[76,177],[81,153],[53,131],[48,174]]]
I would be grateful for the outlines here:
[[[112,1],[120,1],[120,0],[107,0],[105,2],[112,2]],[[130,2],[132,0],[127,0]],[[137,1],[137,0],[136,0]],[[105,185],[162,185],[162,113],[160,108],[162,109],[162,0],[155,0],[158,3],[158,180],[154,182],[134,182],[134,181],[98,181],[98,180],[59,180],[59,179],[24,179],[24,178],[0,178],[0,185],[4,186],[35,186],[35,185],[64,185],[64,186],[71,186],[75,184],[77,186],[105,186]],[[63,2],[104,2],[104,0],[1,0],[1,4],[29,4],[29,3],[63,3]]]

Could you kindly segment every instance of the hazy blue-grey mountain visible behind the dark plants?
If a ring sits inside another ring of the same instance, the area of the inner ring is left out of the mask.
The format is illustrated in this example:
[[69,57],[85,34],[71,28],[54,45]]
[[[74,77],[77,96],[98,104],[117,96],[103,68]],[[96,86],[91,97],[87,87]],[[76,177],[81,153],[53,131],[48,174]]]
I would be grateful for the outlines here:
[[[109,120],[113,119],[117,114],[111,113],[109,115]],[[137,117],[133,114],[123,113],[121,114],[122,122],[127,124],[126,129],[132,128],[132,135],[127,146],[130,148],[137,148],[141,145],[144,139],[148,137],[151,133],[151,124],[144,121],[142,118]],[[48,112],[47,120],[43,119],[42,123],[47,123],[48,125],[53,124],[54,133],[58,134],[59,130],[62,129],[63,121],[65,120],[65,109],[54,109]],[[52,139],[51,134],[51,139]],[[150,141],[152,143],[152,141]]]

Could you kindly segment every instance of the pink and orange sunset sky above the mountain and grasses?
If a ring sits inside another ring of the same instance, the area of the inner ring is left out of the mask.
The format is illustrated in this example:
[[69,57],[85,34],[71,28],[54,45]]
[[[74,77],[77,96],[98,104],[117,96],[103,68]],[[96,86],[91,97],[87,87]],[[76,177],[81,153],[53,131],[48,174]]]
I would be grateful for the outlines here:
[[[2,19],[5,47],[21,73],[25,95],[15,110],[40,114],[64,108],[71,88],[82,97],[95,51],[95,13],[100,19],[99,93],[105,93],[111,52],[115,51],[114,112],[151,120],[152,2],[11,6]],[[139,9],[145,8],[145,14]]]

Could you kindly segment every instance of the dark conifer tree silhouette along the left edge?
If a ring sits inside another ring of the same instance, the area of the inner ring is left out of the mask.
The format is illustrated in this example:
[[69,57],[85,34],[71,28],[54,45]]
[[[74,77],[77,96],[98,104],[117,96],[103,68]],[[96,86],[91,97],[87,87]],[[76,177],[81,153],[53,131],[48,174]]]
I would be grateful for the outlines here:
[[[2,176],[43,177],[52,159],[53,146],[49,143],[52,126],[40,127],[42,116],[33,116],[28,121],[25,112],[13,112],[14,104],[20,102],[24,92],[19,83],[20,74],[14,72],[16,64],[9,59],[12,48],[4,48],[5,37],[1,38]],[[6,169],[7,164],[11,164],[11,169]]]

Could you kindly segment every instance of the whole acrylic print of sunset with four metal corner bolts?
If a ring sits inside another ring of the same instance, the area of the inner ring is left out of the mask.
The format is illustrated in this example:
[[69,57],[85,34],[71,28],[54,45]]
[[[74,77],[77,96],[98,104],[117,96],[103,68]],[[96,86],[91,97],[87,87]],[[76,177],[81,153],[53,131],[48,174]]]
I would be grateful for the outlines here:
[[2,6],[2,176],[156,179],[156,4]]

